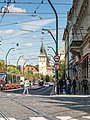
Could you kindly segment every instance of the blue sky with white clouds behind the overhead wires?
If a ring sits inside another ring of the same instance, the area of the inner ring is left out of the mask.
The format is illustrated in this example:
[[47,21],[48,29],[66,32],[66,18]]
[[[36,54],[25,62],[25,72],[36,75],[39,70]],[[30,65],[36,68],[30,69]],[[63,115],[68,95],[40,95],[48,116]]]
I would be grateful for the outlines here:
[[[11,1],[8,3],[8,1]],[[51,0],[58,14],[58,49],[64,45],[63,32],[67,23],[67,12],[72,0]],[[47,54],[55,55],[55,42],[47,31],[49,29],[56,38],[56,17],[48,0],[0,0],[0,60],[8,64],[38,64],[40,47],[43,42]],[[5,13],[6,11],[6,13]],[[18,46],[17,46],[18,44]]]

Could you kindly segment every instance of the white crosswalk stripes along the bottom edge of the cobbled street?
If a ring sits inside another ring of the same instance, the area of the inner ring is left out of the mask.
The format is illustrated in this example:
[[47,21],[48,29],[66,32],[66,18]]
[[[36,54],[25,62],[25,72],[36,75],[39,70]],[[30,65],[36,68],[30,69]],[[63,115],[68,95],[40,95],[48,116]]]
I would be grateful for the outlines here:
[[[8,118],[8,119],[9,120],[17,120],[15,118]],[[43,116],[41,116],[41,117],[29,117],[28,119],[29,120],[49,120],[49,119],[47,119]],[[57,120],[79,120],[78,118],[74,118],[74,117],[71,117],[71,116],[56,116],[56,119]],[[90,116],[82,116],[80,118],[80,120],[81,119],[82,120],[90,120]],[[6,119],[0,117],[0,120],[6,120]]]

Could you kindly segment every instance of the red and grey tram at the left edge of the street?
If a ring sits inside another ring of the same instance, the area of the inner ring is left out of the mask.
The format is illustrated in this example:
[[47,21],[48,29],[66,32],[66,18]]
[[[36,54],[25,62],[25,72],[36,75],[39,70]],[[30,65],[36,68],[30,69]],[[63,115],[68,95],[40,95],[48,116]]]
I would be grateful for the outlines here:
[[0,89],[14,89],[21,88],[20,75],[10,72],[0,72]]

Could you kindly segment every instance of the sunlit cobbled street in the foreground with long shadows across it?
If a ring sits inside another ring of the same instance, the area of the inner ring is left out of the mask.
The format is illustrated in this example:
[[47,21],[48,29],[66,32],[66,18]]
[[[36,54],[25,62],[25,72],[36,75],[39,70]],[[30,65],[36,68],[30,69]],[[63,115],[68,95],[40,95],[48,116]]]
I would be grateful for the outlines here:
[[90,96],[0,92],[0,112],[9,120],[90,120]]

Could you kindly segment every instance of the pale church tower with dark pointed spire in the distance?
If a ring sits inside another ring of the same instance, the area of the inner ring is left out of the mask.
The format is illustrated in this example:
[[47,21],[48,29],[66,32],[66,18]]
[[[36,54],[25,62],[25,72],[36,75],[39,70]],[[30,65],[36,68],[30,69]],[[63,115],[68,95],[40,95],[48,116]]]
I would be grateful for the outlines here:
[[43,42],[42,42],[42,45],[40,48],[40,55],[38,56],[38,59],[39,59],[39,74],[46,75],[46,72],[47,72],[47,53],[46,53],[45,47],[43,45]]

